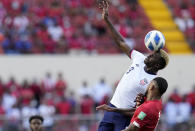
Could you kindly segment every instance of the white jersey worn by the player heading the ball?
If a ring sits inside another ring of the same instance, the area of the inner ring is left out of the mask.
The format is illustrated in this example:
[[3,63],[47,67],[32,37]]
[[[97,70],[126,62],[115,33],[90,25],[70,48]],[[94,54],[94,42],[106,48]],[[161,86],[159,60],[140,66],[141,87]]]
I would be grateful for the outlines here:
[[136,96],[139,93],[145,94],[148,84],[156,77],[145,72],[145,58],[138,51],[131,52],[133,63],[123,75],[110,101],[117,108],[133,108]]

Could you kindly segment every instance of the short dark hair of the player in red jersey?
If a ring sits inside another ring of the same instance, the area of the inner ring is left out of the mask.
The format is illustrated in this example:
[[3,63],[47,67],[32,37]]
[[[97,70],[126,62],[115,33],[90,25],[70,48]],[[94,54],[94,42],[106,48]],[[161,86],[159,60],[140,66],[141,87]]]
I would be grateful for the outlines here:
[[164,78],[162,78],[162,77],[156,77],[153,80],[156,82],[158,90],[159,90],[159,93],[162,96],[166,92],[166,90],[168,88],[167,81]]

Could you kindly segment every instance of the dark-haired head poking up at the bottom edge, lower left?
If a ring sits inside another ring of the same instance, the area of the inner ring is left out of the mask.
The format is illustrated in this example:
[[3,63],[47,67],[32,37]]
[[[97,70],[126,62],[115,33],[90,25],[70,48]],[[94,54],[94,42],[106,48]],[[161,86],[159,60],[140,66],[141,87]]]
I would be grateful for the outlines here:
[[43,117],[34,115],[29,118],[31,131],[42,131],[43,130]]

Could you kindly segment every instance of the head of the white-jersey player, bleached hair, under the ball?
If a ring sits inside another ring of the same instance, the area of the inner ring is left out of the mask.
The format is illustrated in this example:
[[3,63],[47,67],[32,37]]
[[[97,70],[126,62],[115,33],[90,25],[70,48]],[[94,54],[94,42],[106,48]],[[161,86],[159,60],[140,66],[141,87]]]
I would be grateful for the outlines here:
[[147,68],[152,68],[156,71],[164,69],[169,63],[169,56],[164,50],[156,51],[150,54],[145,60]]

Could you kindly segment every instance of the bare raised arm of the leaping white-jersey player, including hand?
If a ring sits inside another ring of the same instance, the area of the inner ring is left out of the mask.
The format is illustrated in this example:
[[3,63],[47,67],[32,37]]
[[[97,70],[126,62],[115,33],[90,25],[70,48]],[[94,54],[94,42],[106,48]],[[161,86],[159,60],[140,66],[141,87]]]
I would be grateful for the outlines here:
[[108,18],[108,7],[109,7],[108,0],[99,0],[99,8],[102,9],[102,18],[106,22],[106,25],[108,26],[114,41],[116,42],[118,47],[129,56],[132,49],[125,43],[124,38],[120,35],[120,33],[114,28],[113,24],[110,22]]

